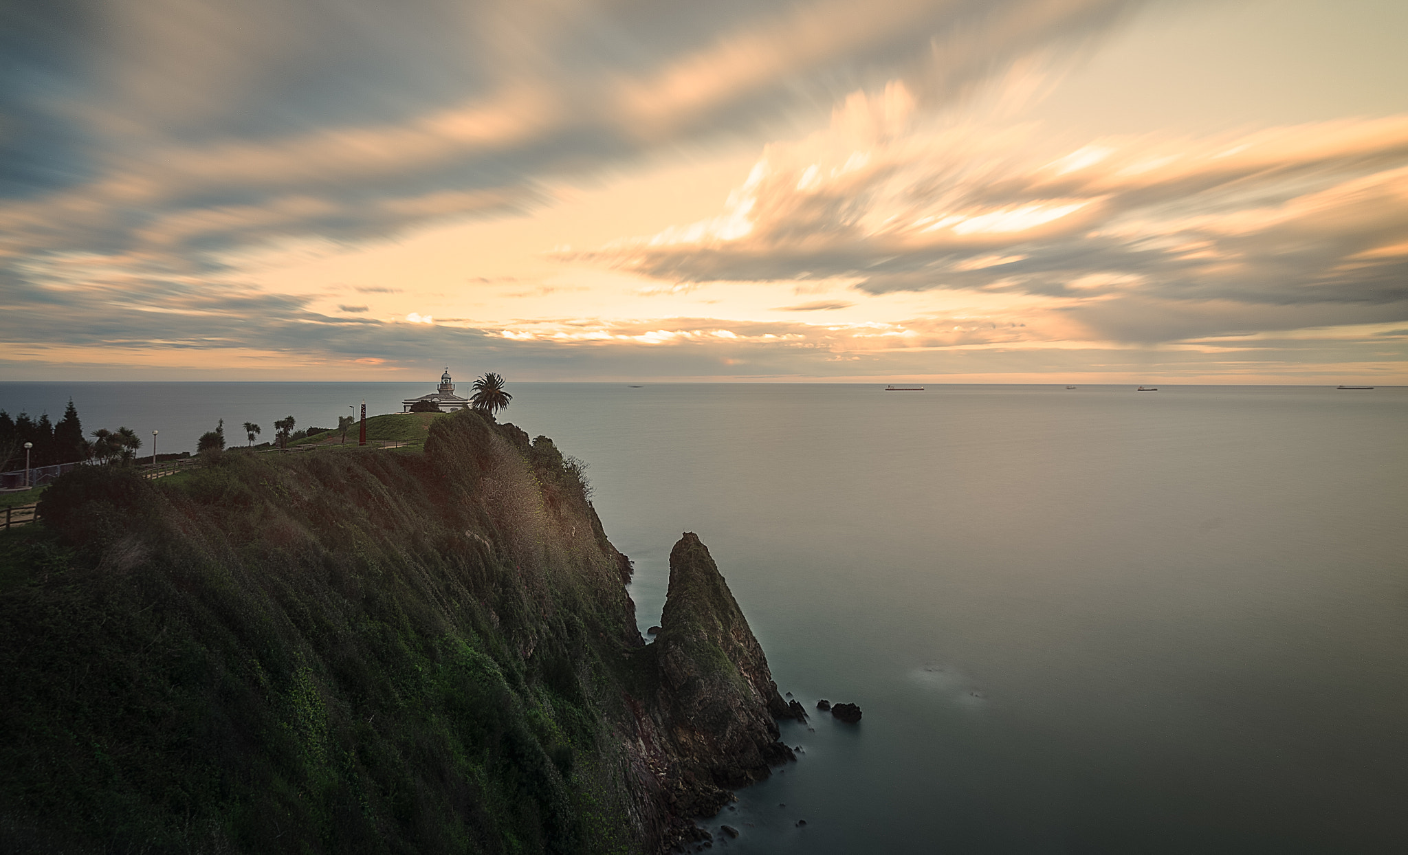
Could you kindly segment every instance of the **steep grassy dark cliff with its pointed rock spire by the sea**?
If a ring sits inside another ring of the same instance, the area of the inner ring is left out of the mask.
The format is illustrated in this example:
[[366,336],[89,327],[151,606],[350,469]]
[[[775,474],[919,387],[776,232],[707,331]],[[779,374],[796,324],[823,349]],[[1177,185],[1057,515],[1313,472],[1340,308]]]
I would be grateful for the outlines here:
[[0,851],[660,852],[790,752],[686,535],[631,565],[546,437],[82,468],[0,538]]

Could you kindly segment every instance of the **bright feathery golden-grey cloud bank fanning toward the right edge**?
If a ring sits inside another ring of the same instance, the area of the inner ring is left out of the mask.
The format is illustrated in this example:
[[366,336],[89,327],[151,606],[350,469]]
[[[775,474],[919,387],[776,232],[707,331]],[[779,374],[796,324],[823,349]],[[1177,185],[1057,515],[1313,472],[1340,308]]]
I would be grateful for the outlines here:
[[574,258],[1039,294],[1121,341],[1408,318],[1408,117],[1062,151],[912,106],[903,83],[857,93],[826,131],[767,146],[718,217]]

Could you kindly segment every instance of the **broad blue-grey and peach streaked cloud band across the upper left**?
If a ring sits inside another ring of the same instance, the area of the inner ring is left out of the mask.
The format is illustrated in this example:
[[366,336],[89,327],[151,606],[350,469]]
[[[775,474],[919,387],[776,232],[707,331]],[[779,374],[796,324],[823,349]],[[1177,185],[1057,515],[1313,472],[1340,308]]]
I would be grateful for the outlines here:
[[839,86],[910,73],[952,96],[1138,4],[35,7],[7,25],[0,252],[189,261],[524,210],[545,176],[776,123]]

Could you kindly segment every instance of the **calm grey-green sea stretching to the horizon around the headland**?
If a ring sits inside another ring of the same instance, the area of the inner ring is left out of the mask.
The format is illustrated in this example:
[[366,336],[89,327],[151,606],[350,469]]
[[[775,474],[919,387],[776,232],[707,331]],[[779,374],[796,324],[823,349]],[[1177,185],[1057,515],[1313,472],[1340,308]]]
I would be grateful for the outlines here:
[[[177,451],[429,387],[0,383],[0,407],[72,396]],[[800,762],[715,849],[1408,851],[1408,389],[510,390],[590,463],[642,630],[696,531],[779,686],[865,710],[786,725]]]

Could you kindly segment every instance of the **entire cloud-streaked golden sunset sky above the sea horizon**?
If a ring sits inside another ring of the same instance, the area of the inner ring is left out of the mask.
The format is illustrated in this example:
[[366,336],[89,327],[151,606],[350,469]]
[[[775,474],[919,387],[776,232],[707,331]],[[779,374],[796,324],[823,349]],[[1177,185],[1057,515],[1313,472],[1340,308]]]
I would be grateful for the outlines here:
[[0,0],[0,379],[1408,383],[1401,0]]

